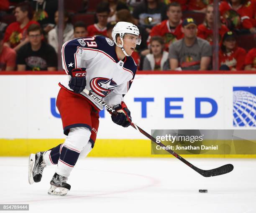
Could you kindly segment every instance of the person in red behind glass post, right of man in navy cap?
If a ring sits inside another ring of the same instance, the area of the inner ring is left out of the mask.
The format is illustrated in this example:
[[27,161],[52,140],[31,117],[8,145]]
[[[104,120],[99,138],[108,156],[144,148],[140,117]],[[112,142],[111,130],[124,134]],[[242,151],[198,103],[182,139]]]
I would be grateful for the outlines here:
[[[198,31],[197,36],[205,39],[212,45],[213,43],[213,26],[214,26],[214,13],[213,13],[213,5],[208,5],[206,10],[206,16],[204,23],[198,25]],[[221,39],[223,35],[228,32],[228,28],[222,24],[219,23],[219,42],[221,42]]]

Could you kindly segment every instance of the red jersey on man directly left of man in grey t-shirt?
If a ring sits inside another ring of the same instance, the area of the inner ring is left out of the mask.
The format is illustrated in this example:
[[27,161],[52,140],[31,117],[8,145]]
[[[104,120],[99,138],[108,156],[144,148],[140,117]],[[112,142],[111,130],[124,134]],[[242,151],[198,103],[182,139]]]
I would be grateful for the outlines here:
[[164,38],[165,50],[168,50],[170,43],[173,43],[184,36],[181,31],[182,20],[180,22],[181,23],[176,28],[170,28],[169,20],[164,20],[158,25],[154,26],[148,36],[147,44],[150,43],[150,39],[153,36],[158,35]]

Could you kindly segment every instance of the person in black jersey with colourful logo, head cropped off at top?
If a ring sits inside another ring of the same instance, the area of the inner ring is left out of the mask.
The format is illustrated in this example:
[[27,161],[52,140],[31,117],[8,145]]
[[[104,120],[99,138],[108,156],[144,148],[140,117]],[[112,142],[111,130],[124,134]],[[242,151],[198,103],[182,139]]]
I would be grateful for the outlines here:
[[38,21],[45,33],[54,28],[54,13],[58,10],[58,0],[31,0],[35,11],[33,20]]

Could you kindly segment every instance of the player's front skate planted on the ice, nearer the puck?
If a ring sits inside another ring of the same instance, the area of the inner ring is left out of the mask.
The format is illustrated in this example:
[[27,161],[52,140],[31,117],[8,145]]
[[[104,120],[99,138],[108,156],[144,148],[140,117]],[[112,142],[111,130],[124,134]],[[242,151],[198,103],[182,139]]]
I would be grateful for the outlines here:
[[57,173],[51,179],[51,187],[48,190],[49,195],[65,196],[70,190],[71,186],[67,184],[67,177],[58,175]]

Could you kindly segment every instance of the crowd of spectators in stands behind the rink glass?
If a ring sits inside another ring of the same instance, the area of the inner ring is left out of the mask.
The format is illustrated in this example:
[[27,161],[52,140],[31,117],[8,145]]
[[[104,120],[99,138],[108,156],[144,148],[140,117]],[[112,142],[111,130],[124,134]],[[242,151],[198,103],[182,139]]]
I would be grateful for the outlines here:
[[138,70],[211,70],[218,24],[219,69],[256,70],[256,0],[64,0],[59,44],[58,0],[0,1],[0,71],[56,71],[59,46],[74,38],[112,39],[118,21],[138,26],[132,57]]

